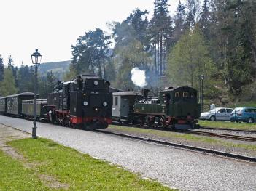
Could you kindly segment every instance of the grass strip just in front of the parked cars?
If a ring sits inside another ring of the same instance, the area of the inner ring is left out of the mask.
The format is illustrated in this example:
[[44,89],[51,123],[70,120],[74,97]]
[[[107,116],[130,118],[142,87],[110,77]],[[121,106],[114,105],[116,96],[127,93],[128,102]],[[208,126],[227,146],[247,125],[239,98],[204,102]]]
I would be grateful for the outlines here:
[[256,123],[231,123],[229,121],[199,121],[201,126],[216,127],[216,128],[232,128],[232,129],[247,129],[256,130]]

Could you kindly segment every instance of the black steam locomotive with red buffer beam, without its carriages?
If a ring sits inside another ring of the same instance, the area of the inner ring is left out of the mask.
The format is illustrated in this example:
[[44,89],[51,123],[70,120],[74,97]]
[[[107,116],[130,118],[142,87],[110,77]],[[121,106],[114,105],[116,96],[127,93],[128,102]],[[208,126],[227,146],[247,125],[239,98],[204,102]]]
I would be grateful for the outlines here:
[[50,108],[49,120],[63,126],[106,128],[112,123],[109,86],[109,81],[89,75],[59,84],[55,92],[48,95],[45,107]]

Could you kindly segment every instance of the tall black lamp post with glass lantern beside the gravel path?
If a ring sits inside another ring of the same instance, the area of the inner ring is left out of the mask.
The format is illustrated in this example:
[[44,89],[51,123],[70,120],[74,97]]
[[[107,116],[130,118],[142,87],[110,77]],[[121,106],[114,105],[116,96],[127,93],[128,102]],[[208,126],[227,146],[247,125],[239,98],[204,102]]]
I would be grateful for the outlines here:
[[36,94],[37,94],[37,68],[40,64],[42,59],[42,55],[38,52],[38,49],[36,49],[36,52],[34,52],[31,55],[32,63],[35,65],[35,82],[34,82],[34,121],[33,121],[33,128],[32,128],[32,138],[36,139]]

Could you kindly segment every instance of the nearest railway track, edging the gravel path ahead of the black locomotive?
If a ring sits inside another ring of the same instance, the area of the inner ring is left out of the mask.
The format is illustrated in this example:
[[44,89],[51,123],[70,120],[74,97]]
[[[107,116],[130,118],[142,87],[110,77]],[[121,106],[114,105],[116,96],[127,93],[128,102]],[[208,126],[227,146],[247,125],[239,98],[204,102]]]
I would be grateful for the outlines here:
[[111,134],[111,135],[115,135],[115,136],[119,136],[119,137],[136,139],[136,140],[141,140],[144,142],[152,142],[152,143],[159,144],[159,145],[168,145],[168,146],[172,146],[172,147],[179,147],[182,149],[191,150],[191,151],[195,151],[195,152],[199,152],[199,153],[208,153],[208,154],[218,155],[218,156],[232,158],[232,159],[236,159],[236,160],[244,160],[247,162],[256,163],[256,158],[245,156],[245,155],[225,153],[225,152],[218,151],[218,150],[209,150],[209,149],[205,149],[202,147],[193,147],[190,145],[182,145],[182,144],[178,144],[178,143],[174,143],[174,142],[165,142],[165,141],[160,141],[160,140],[156,140],[156,139],[147,139],[145,137],[136,137],[136,136],[129,135],[129,134],[120,134],[120,133],[102,131],[102,130],[94,130],[94,131],[101,133],[101,134]]

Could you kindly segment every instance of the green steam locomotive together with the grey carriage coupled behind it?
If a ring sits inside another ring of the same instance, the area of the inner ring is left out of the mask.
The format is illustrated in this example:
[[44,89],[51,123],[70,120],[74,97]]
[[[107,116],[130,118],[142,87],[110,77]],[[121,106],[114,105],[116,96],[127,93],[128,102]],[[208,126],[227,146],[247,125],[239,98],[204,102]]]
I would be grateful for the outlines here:
[[[171,129],[198,129],[201,105],[197,91],[188,86],[169,87],[159,92],[159,97],[149,97],[149,89],[142,94],[113,93],[113,120],[140,123],[141,126],[159,126]],[[120,98],[117,98],[120,97]],[[118,108],[118,101],[120,107]],[[123,102],[122,102],[123,100]],[[114,111],[115,110],[115,111]],[[117,115],[116,111],[120,111]]]

